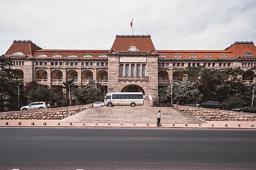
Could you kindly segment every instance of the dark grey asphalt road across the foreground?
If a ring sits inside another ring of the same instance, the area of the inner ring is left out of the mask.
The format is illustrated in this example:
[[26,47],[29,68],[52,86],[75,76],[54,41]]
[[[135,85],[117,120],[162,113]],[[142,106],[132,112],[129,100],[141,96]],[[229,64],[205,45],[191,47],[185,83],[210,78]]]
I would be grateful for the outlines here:
[[0,169],[255,169],[255,130],[0,128]]

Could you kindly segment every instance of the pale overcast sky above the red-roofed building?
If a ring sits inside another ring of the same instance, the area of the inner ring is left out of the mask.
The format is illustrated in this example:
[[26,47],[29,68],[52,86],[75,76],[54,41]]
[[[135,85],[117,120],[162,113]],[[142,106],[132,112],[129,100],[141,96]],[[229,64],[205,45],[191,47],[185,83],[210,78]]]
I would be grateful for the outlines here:
[[151,35],[156,50],[222,50],[256,41],[255,0],[0,0],[0,54],[14,40],[43,49],[109,50],[115,35]]

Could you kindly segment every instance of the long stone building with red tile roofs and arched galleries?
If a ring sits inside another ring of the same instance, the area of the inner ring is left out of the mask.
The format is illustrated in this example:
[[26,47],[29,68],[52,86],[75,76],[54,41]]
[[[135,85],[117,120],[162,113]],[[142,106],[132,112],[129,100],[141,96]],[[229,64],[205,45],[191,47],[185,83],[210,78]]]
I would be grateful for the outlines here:
[[[14,40],[5,56],[13,60],[12,68],[17,70],[13,74],[24,82],[65,90],[63,82],[68,79],[81,86],[98,80],[105,92],[138,91],[151,96],[153,89],[175,82],[180,76],[177,70],[188,66],[224,71],[256,65],[252,41],[236,41],[224,50],[157,50],[150,35],[117,35],[110,50],[42,49],[30,40]],[[242,82],[256,82],[250,76],[254,73],[244,73]]]

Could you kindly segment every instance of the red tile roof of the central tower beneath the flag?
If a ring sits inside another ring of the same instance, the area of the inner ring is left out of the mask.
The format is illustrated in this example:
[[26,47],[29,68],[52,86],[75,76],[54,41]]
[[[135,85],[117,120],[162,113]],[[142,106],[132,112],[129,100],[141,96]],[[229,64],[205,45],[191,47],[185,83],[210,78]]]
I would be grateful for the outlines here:
[[150,35],[117,35],[111,50],[122,52],[127,51],[131,46],[136,46],[139,51],[155,50]]

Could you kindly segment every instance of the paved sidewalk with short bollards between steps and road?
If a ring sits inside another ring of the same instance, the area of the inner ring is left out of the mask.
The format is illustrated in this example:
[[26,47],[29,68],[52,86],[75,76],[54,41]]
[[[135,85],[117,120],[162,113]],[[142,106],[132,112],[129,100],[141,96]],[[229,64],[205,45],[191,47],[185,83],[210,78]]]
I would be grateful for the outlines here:
[[[8,122],[8,125],[7,125]],[[32,125],[34,122],[34,125]],[[204,124],[138,124],[136,123],[69,123],[59,120],[0,120],[2,127],[45,127],[45,128],[186,128],[186,129],[256,129],[256,122],[208,121]]]

